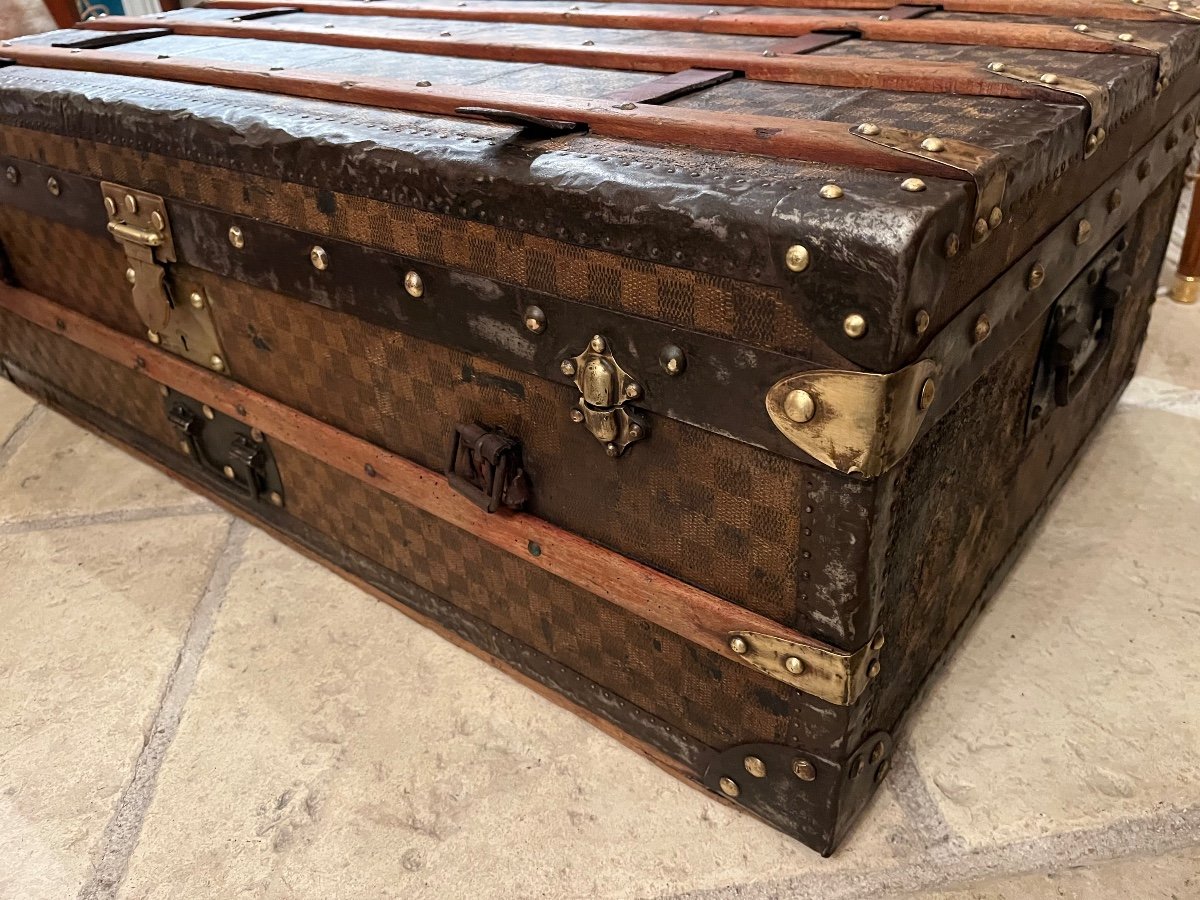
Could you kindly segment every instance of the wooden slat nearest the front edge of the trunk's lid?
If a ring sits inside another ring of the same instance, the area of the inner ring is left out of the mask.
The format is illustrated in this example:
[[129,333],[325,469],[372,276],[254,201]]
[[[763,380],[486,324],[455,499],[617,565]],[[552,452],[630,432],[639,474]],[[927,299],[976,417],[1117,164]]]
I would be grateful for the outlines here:
[[[13,46],[4,53],[24,66],[257,90],[428,115],[455,116],[464,107],[499,109],[541,119],[580,122],[592,133],[602,137],[827,162],[955,181],[971,180],[977,175],[983,178],[983,169],[995,162],[995,154],[980,154],[977,169],[962,170],[935,158],[904,154],[863,140],[852,134],[851,127],[845,124],[815,119],[712,113],[614,103],[611,100],[547,97],[472,85],[402,88],[392,78],[316,71],[278,72],[260,65],[198,58],[161,60],[150,54],[118,50],[71,52]],[[1061,102],[1057,92],[1050,94],[1051,98]]]

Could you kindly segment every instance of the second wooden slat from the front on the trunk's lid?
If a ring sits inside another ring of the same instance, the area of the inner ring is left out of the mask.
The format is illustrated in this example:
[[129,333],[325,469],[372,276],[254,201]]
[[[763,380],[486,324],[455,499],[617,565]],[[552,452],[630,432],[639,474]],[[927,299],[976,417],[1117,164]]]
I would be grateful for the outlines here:
[[[1063,101],[1061,91],[1037,83],[1013,80],[971,62],[926,62],[900,58],[793,56],[709,49],[697,52],[676,47],[606,47],[587,43],[551,42],[502,43],[486,40],[430,37],[415,34],[379,34],[366,29],[274,25],[262,22],[173,22],[175,34],[198,37],[229,37],[289,43],[392,50],[437,56],[589,66],[632,72],[678,72],[685,68],[732,70],[745,78],[782,84],[811,84],[828,88],[874,88],[928,94],[960,94],[980,97]],[[140,18],[108,17],[89,23],[100,30],[140,29]],[[107,54],[92,56],[104,65]],[[468,106],[481,106],[470,103]],[[552,116],[547,116],[552,118]],[[1103,125],[1096,122],[1094,125]]]

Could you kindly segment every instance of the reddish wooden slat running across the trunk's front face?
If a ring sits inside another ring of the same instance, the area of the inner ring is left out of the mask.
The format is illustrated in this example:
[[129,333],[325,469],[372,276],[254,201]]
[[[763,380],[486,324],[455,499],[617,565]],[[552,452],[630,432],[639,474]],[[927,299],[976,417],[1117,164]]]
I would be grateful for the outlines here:
[[[118,365],[194,397],[238,421],[260,428],[270,438],[282,440],[378,491],[462,528],[518,559],[726,659],[763,671],[830,703],[853,703],[858,692],[865,688],[868,679],[863,677],[863,672],[875,655],[870,652],[870,644],[858,653],[846,654],[534,516],[508,512],[488,515],[466,497],[455,493],[440,474],[304,415],[229,378],[101,325],[47,298],[20,288],[0,286],[0,307]],[[779,638],[790,642],[806,664],[810,660],[818,662],[806,665],[805,671],[796,676],[787,673],[780,660],[776,666],[779,672],[767,672],[762,667],[761,655],[743,655],[730,647],[731,636],[740,634],[764,635],[773,641]],[[839,680],[834,671],[836,665],[822,667],[820,660],[842,660],[847,670],[842,673],[844,679]]]

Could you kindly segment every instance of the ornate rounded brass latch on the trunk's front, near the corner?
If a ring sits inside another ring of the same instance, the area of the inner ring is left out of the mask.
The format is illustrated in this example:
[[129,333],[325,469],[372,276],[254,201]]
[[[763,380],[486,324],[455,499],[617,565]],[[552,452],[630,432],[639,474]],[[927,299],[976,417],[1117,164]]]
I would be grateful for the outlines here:
[[620,456],[649,433],[646,419],[632,408],[632,401],[642,396],[642,385],[620,367],[602,335],[593,337],[578,356],[563,360],[562,368],[580,389],[571,421],[592,432],[608,456]]

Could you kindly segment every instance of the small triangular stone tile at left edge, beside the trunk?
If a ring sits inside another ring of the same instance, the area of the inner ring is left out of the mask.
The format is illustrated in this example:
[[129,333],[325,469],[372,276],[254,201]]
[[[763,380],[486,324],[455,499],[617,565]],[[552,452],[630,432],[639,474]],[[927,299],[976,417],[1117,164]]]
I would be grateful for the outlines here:
[[166,475],[50,412],[30,428],[0,469],[0,523],[208,505]]

